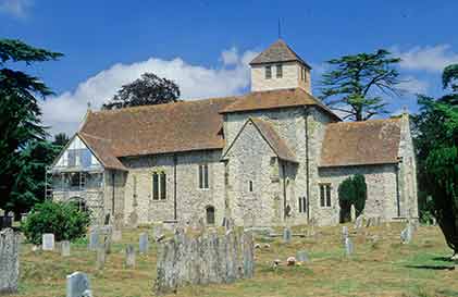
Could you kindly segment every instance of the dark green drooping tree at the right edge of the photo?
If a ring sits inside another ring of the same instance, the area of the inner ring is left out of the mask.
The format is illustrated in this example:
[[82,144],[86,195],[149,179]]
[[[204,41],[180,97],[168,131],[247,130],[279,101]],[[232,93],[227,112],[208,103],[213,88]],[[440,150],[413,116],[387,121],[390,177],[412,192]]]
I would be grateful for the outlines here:
[[420,189],[432,198],[431,211],[447,245],[458,253],[458,65],[444,70],[438,99],[419,96],[420,112],[413,116]]

